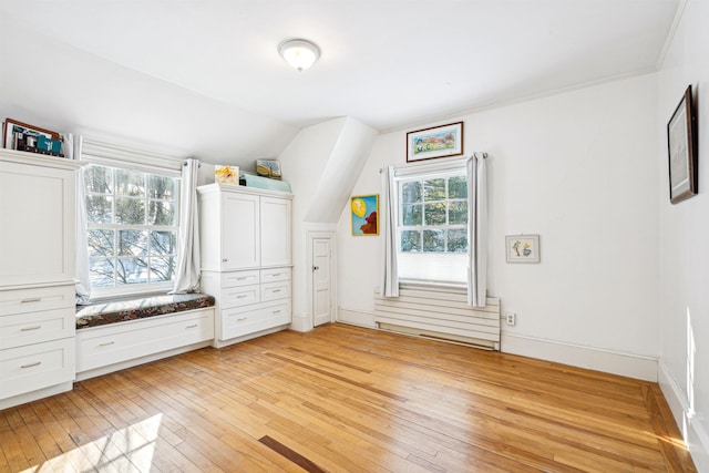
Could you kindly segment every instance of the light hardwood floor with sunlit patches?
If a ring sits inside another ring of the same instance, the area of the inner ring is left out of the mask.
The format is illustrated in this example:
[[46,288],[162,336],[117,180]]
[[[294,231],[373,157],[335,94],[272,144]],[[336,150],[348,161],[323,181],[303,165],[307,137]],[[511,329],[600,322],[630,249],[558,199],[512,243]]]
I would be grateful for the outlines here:
[[657,384],[331,325],[0,411],[0,472],[692,472]]

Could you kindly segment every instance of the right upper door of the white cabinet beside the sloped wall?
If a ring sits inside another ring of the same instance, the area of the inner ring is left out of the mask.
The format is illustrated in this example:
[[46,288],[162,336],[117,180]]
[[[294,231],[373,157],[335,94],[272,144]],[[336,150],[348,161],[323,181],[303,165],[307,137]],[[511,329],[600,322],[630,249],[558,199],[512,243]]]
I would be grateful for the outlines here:
[[261,197],[260,208],[261,266],[290,265],[290,200]]

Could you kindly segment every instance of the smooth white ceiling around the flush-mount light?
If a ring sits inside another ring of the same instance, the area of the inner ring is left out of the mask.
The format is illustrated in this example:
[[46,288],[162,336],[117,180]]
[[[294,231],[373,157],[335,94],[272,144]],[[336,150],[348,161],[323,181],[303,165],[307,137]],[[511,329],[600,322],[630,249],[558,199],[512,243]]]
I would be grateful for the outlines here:
[[[240,111],[401,128],[657,66],[680,0],[0,0],[53,40]],[[28,17],[29,16],[29,17]],[[320,61],[278,55],[306,38]]]

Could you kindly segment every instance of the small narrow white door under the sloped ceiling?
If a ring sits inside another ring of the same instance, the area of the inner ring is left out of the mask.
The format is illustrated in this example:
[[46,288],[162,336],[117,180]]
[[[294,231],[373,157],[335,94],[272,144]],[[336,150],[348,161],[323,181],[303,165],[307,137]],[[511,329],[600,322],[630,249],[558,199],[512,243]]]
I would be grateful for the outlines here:
[[312,326],[332,320],[332,241],[330,238],[312,239]]

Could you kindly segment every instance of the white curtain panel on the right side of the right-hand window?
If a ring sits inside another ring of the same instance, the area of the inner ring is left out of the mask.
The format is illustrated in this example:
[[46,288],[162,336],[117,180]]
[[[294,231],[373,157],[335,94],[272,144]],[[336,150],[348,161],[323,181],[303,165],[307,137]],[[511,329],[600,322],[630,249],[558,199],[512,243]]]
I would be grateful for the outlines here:
[[487,178],[485,154],[473,153],[467,172],[467,304],[485,307],[487,292]]

